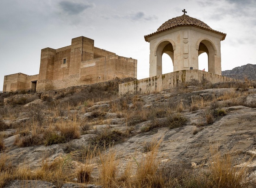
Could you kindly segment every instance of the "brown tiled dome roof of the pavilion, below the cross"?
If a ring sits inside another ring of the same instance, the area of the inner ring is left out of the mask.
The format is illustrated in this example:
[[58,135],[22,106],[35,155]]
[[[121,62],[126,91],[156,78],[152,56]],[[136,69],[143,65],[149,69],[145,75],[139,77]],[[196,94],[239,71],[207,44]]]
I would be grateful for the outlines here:
[[225,33],[213,30],[206,23],[200,21],[199,19],[189,17],[188,15],[182,15],[182,16],[179,16],[179,17],[176,17],[176,18],[169,19],[168,21],[163,23],[157,29],[156,32],[144,36],[145,41],[148,42],[148,38],[150,36],[154,36],[158,33],[161,33],[161,32],[167,31],[167,30],[171,30],[171,29],[176,28],[176,27],[181,27],[181,26],[194,26],[194,27],[198,27],[198,28],[203,29],[203,30],[207,30],[207,31],[211,31],[211,32],[214,32],[214,33],[217,33],[217,34],[221,34],[223,36],[221,40],[224,40],[225,37],[226,37]]

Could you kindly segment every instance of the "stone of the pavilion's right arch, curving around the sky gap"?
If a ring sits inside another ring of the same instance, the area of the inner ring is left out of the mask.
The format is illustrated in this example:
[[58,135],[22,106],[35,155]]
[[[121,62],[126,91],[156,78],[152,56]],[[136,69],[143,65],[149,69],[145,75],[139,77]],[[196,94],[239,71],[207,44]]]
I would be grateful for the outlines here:
[[217,55],[216,46],[208,38],[201,38],[197,42],[198,56],[202,53],[208,55],[208,72],[215,73],[215,55]]

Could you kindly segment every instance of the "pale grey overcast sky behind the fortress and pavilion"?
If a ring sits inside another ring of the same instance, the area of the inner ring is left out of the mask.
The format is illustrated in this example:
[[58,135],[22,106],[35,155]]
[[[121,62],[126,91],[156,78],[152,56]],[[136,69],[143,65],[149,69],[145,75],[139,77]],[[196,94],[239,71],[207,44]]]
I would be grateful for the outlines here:
[[137,59],[137,78],[146,78],[150,43],[144,35],[181,16],[183,8],[227,34],[221,41],[222,70],[256,64],[256,0],[1,0],[0,91],[4,75],[39,74],[41,49],[71,45],[78,36]]

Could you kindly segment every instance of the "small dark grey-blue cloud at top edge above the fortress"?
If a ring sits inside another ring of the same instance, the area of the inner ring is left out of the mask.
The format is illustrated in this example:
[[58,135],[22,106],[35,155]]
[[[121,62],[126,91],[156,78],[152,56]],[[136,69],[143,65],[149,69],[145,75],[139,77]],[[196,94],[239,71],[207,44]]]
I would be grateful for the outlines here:
[[69,15],[77,15],[82,13],[87,8],[92,8],[94,5],[87,2],[61,1],[59,6]]

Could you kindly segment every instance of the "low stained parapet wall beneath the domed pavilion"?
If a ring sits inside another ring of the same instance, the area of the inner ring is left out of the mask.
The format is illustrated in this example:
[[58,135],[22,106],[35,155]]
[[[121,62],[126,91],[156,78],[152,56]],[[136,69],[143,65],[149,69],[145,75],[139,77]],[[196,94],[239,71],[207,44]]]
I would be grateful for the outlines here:
[[161,92],[164,89],[176,87],[178,84],[187,82],[191,79],[201,81],[202,77],[209,80],[211,83],[236,81],[234,78],[202,70],[180,70],[119,84],[119,96],[124,94],[135,95],[139,93]]

